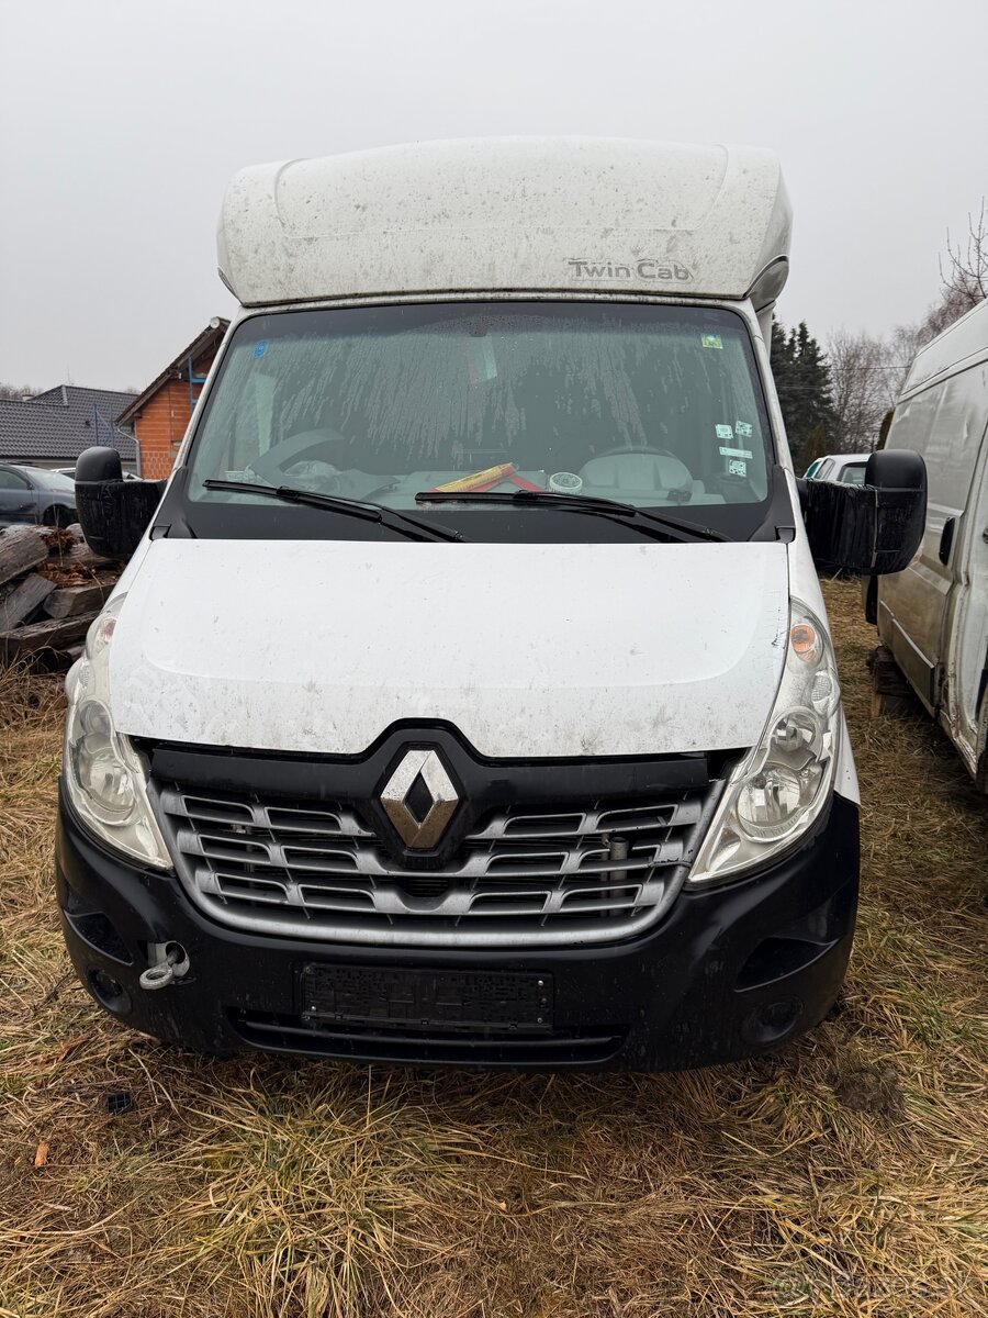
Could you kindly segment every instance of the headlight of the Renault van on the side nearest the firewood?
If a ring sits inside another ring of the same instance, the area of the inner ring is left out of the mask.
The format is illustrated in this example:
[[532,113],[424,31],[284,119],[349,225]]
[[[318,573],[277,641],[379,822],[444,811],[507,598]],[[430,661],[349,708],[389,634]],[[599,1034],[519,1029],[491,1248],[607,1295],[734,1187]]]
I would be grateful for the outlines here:
[[144,762],[109,713],[109,641],[124,596],[94,621],[82,659],[66,677],[65,782],[88,829],[115,851],[170,869],[165,841],[148,804]]

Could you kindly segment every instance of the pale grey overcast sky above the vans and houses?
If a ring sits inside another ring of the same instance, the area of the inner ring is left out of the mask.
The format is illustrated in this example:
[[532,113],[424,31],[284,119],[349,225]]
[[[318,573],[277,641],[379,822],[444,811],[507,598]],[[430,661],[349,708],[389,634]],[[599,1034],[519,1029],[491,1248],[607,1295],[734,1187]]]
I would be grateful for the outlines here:
[[988,192],[985,0],[0,0],[0,381],[144,386],[242,165],[489,133],[775,148],[780,311],[881,333]]

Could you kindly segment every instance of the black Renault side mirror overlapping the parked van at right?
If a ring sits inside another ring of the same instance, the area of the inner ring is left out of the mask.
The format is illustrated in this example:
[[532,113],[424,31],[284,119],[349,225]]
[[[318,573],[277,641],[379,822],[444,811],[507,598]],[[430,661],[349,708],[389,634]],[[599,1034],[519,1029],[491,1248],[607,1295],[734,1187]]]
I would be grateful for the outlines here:
[[868,576],[901,572],[926,529],[926,464],[905,448],[872,453],[863,485],[797,481],[818,567]]

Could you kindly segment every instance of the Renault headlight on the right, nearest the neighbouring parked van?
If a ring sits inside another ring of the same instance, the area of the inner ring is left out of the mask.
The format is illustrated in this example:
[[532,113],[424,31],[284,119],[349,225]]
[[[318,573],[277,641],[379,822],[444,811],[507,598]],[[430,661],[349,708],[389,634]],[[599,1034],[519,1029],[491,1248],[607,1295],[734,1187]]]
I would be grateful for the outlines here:
[[792,601],[785,668],[761,739],[731,774],[689,876],[730,878],[788,850],[830,800],[840,684],[826,629]]

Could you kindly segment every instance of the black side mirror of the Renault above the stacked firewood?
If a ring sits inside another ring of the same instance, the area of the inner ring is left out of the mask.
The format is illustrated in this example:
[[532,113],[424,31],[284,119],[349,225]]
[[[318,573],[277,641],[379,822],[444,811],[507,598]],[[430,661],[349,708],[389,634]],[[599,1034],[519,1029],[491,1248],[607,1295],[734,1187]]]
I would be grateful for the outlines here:
[[90,548],[129,559],[165,493],[165,481],[125,481],[116,448],[87,448],[75,464],[75,507]]

